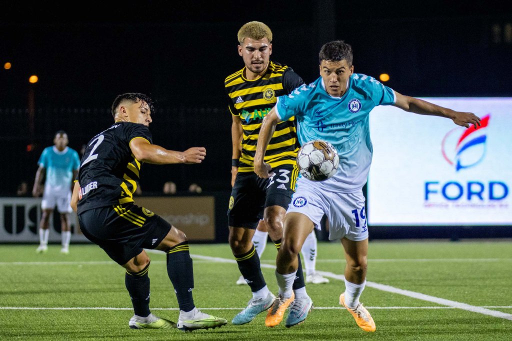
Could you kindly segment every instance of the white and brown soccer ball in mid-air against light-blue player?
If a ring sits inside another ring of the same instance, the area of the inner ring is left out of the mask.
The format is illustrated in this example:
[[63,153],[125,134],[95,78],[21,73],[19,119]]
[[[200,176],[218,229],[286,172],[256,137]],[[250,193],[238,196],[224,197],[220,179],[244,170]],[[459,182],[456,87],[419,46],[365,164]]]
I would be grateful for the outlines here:
[[305,143],[297,154],[298,171],[313,181],[324,181],[336,173],[339,156],[336,148],[324,140]]

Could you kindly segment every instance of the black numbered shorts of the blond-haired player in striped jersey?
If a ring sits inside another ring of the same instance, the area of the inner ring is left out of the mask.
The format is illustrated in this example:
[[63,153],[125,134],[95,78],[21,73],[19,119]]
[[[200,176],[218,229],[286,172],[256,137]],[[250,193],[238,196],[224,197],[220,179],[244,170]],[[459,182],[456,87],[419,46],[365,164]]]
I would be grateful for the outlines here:
[[285,164],[273,168],[272,172],[274,175],[268,179],[262,179],[254,172],[237,174],[229,198],[229,226],[255,229],[263,219],[266,207],[288,209],[295,191],[297,166]]

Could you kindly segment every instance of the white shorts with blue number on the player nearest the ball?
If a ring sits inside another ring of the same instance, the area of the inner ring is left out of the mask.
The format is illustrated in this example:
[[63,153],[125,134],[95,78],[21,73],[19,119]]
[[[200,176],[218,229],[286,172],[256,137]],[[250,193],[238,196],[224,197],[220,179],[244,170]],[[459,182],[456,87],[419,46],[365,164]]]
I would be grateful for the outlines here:
[[356,193],[333,193],[297,182],[288,212],[298,212],[307,216],[318,230],[320,221],[327,215],[329,220],[329,240],[342,239],[361,241],[368,239],[365,196],[362,190]]

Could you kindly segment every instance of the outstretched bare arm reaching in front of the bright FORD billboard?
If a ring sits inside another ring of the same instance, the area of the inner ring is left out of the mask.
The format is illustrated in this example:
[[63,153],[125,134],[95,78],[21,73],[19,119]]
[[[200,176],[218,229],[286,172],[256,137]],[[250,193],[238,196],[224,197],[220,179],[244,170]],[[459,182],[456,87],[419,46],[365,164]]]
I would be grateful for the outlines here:
[[480,125],[480,117],[473,113],[463,113],[452,109],[443,108],[442,106],[424,101],[419,98],[401,95],[396,91],[395,94],[396,103],[394,106],[410,113],[451,118],[455,124],[465,126],[466,128],[469,127],[470,124],[473,124],[475,129],[477,125]]

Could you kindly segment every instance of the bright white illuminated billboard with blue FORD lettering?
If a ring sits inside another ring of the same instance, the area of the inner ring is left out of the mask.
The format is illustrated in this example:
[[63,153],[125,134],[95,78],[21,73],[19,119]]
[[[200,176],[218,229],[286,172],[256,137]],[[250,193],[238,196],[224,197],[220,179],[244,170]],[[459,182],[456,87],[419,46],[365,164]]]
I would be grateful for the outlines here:
[[370,225],[512,225],[512,98],[422,98],[481,126],[394,106],[370,113]]

